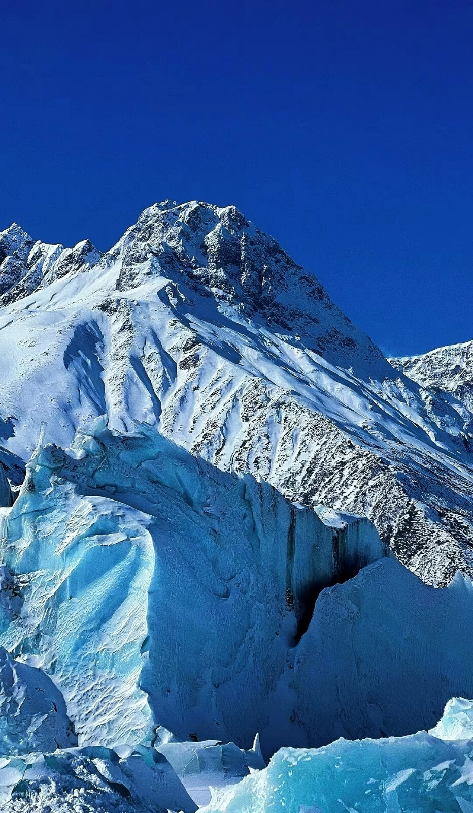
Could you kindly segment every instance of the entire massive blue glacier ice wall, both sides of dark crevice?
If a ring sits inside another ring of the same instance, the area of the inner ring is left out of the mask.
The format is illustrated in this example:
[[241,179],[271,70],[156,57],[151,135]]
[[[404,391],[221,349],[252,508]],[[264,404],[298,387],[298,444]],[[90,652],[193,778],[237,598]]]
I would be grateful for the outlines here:
[[3,511],[0,644],[54,679],[80,746],[151,745],[165,725],[244,749],[259,732],[267,757],[412,733],[473,696],[454,632],[470,580],[424,585],[368,520],[287,502],[145,424],[40,443]]

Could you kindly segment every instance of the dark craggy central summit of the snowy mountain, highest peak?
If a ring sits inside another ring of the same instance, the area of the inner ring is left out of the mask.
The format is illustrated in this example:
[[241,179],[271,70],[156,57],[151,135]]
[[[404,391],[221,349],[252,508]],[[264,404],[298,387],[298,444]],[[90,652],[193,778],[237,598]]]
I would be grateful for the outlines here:
[[[312,272],[293,261],[236,206],[203,201],[155,203],[109,252],[121,263],[117,288],[150,273],[177,285],[182,302],[213,298],[336,366],[392,372],[381,351],[336,307]],[[152,266],[152,269],[151,269]]]

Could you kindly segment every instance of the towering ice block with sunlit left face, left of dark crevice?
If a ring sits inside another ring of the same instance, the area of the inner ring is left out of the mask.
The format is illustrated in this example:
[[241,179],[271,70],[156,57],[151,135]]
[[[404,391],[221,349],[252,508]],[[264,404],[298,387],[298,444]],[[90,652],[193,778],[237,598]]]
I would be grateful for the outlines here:
[[40,442],[3,512],[0,641],[54,677],[80,745],[164,724],[274,750],[317,596],[389,555],[369,520],[320,519],[145,424]]

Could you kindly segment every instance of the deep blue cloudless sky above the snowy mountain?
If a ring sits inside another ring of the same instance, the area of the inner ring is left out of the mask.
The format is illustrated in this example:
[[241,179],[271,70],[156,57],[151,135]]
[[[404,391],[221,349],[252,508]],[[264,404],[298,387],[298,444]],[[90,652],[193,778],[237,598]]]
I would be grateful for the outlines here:
[[2,3],[0,228],[235,203],[385,352],[473,338],[473,3]]

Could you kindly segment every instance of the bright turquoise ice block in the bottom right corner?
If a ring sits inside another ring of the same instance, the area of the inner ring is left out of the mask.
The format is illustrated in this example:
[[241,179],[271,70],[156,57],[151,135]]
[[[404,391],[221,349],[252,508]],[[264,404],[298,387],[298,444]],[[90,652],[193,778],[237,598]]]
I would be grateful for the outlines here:
[[[471,813],[471,701],[456,698],[430,733],[284,748],[266,770],[215,789],[206,813]],[[435,736],[433,736],[435,732]],[[453,732],[459,736],[449,736]],[[448,736],[445,737],[445,733]],[[463,736],[465,735],[465,736]]]

